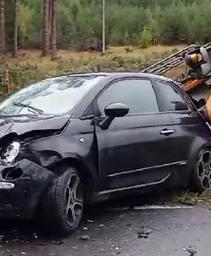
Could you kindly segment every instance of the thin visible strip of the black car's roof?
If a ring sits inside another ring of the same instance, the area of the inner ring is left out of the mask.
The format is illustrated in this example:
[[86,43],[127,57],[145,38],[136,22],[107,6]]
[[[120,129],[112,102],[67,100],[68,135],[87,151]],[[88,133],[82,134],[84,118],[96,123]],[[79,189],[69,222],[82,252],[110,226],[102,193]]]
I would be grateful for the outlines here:
[[169,79],[167,77],[157,75],[154,73],[141,73],[141,72],[114,72],[114,73],[74,73],[70,74],[70,76],[101,76],[101,77],[131,77],[131,76],[139,76],[141,78],[147,79],[161,79],[164,81],[174,81],[173,79]]

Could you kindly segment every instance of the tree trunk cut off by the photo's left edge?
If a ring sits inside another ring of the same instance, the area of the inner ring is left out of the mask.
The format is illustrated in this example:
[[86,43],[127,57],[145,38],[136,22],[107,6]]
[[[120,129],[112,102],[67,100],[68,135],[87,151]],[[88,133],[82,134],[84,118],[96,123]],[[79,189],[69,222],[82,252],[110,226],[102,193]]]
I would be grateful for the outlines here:
[[3,52],[5,50],[5,2],[0,0],[0,64],[3,62]]

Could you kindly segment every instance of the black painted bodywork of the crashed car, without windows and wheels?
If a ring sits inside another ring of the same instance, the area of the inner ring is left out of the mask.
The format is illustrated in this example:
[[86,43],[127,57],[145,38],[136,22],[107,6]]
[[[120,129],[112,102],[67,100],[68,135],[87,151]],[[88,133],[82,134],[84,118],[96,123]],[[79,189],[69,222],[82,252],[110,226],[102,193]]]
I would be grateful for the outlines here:
[[[198,151],[211,146],[211,132],[197,109],[185,99],[187,111],[128,115],[114,119],[107,130],[102,130],[102,119],[94,117],[94,99],[108,84],[126,78],[174,82],[143,73],[100,75],[104,76],[100,83],[70,113],[0,118],[1,144],[10,137],[21,141],[14,164],[1,164],[0,179],[5,180],[3,173],[8,168],[23,172],[11,181],[14,189],[1,191],[9,208],[0,201],[0,215],[10,209],[16,217],[31,218],[64,164],[77,166],[81,172],[88,201],[109,198],[115,192],[154,187],[171,179],[174,185],[188,182]],[[163,136],[160,132],[165,129],[175,133]]]

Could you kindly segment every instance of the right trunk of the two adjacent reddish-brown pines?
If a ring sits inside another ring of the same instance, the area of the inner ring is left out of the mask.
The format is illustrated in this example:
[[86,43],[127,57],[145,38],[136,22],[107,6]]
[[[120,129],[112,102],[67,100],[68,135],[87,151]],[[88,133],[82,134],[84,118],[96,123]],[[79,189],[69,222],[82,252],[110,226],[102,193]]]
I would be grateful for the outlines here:
[[57,56],[57,0],[52,0],[51,6],[52,35],[51,35],[51,60],[54,61]]

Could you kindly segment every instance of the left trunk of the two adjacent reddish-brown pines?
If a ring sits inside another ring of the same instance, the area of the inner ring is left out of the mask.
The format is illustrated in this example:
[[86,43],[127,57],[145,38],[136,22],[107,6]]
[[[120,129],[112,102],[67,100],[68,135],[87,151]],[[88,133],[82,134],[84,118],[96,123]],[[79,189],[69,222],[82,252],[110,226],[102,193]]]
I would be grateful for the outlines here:
[[42,55],[47,56],[49,53],[49,3],[52,0],[43,0],[43,38],[42,38]]

